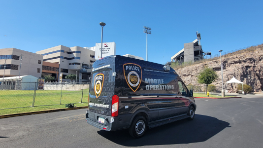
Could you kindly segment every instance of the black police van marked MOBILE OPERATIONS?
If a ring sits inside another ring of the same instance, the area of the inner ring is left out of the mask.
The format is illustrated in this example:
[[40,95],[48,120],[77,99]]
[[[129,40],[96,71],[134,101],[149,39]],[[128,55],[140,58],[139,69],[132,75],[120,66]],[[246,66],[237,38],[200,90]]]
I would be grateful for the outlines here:
[[193,90],[168,66],[119,55],[92,67],[86,120],[106,131],[129,128],[140,138],[147,128],[195,117]]

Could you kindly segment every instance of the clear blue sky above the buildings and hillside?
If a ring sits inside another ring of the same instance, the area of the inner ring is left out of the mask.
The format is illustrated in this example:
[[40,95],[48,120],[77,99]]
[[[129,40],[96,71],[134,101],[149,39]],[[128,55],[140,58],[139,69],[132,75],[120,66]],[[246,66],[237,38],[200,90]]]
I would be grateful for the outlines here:
[[[263,0],[0,0],[0,48],[36,52],[57,45],[116,43],[116,54],[163,64],[201,34],[218,54],[263,43]],[[6,36],[4,36],[6,35]]]

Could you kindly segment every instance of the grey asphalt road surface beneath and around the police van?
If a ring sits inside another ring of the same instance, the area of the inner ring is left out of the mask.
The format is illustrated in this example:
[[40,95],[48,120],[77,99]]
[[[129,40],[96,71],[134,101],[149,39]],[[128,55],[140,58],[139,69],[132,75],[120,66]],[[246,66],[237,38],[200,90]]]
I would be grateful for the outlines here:
[[107,132],[86,123],[86,109],[0,119],[1,148],[262,148],[263,98],[196,99],[187,119],[147,131]]

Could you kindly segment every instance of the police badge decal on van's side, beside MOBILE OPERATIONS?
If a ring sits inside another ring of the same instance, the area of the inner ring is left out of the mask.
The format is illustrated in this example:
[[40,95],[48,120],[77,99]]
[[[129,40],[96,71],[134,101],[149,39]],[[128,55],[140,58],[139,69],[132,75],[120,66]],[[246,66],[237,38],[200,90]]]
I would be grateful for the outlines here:
[[134,63],[125,63],[123,71],[127,84],[135,92],[141,83],[141,67]]

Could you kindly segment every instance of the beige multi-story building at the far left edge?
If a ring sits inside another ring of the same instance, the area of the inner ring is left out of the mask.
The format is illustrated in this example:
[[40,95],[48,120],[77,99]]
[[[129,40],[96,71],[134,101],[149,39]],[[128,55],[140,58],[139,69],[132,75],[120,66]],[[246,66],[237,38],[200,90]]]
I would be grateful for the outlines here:
[[[21,69],[20,69],[20,61]],[[20,75],[33,75],[41,77],[43,55],[16,49],[0,49],[0,77],[10,77]],[[4,64],[6,63],[6,64]],[[4,68],[5,65],[5,68]]]

